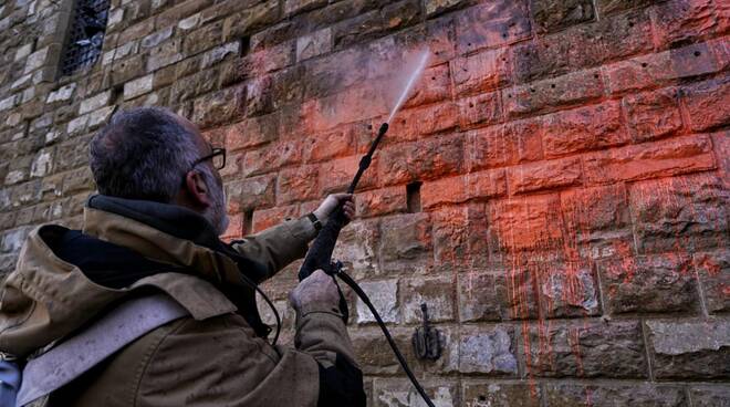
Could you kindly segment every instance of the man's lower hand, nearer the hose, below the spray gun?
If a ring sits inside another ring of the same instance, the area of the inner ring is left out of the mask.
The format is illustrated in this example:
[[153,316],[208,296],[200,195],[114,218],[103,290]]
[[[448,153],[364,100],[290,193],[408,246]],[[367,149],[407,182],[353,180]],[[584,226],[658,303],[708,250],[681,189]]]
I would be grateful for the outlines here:
[[315,311],[337,312],[340,291],[332,275],[317,270],[296,285],[289,294],[289,302],[300,315]]

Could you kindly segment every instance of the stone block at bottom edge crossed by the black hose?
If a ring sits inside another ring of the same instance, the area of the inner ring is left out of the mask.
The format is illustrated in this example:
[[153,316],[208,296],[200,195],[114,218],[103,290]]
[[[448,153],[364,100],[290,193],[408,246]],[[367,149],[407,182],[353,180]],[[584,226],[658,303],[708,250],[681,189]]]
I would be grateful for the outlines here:
[[[439,407],[457,407],[459,388],[456,383],[442,380],[423,380],[421,385],[434,405]],[[376,407],[411,407],[425,405],[425,401],[408,380],[375,379],[373,383],[372,406]]]

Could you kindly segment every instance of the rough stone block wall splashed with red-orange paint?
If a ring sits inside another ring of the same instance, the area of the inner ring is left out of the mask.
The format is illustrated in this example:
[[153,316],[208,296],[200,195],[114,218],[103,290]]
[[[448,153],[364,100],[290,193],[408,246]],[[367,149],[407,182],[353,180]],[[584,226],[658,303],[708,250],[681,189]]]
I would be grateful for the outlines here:
[[[437,405],[728,406],[727,1],[112,0],[100,61],[59,79],[69,15],[0,6],[0,270],[33,226],[81,225],[116,107],[228,148],[227,238],[309,212],[429,46],[336,253]],[[264,286],[286,328],[295,270]],[[421,302],[436,362],[410,347]],[[352,310],[371,405],[420,406]]]

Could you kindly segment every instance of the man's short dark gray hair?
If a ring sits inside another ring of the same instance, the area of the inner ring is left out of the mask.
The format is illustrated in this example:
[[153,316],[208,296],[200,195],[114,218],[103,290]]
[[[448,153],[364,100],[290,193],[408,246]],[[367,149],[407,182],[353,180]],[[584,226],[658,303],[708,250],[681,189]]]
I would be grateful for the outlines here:
[[91,169],[104,195],[169,204],[200,155],[195,134],[160,107],[114,115],[91,142]]

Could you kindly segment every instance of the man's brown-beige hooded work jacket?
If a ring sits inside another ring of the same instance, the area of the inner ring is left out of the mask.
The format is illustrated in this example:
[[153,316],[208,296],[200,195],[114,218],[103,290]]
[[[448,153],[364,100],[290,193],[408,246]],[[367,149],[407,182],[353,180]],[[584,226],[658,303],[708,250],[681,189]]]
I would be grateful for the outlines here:
[[[53,393],[51,406],[316,406],[320,371],[333,366],[338,356],[354,365],[345,325],[331,305],[301,311],[295,347],[272,347],[258,337],[217,289],[234,284],[239,267],[196,239],[181,239],[113,211],[85,208],[86,236],[198,273],[161,272],[111,289],[56,255],[54,243],[63,230],[36,228],[17,269],[0,288],[0,351],[33,357],[111,306],[149,291],[167,293],[190,316],[152,331]],[[232,248],[264,264],[271,276],[302,257],[314,236],[311,222],[303,218]]]

